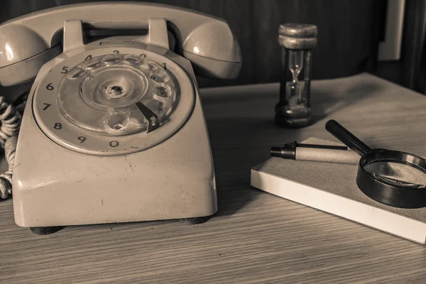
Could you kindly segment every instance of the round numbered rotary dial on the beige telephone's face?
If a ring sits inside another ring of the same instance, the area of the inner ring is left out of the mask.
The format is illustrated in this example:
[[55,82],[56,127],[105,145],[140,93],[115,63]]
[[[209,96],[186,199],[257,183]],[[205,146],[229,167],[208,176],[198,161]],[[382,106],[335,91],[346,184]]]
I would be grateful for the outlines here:
[[138,48],[88,50],[56,65],[33,98],[35,120],[72,151],[119,155],[170,138],[195,94],[175,62]]

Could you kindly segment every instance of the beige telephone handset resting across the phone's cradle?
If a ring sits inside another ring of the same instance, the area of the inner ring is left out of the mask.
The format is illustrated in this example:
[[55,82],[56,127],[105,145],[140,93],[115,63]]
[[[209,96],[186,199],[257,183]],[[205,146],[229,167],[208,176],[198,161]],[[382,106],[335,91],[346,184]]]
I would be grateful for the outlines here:
[[[160,4],[103,2],[74,4],[31,13],[7,21],[0,27],[0,84],[9,86],[31,80],[40,67],[62,53],[58,32],[69,26],[64,50],[82,44],[79,27],[72,20],[90,28],[149,28],[142,42],[168,48],[163,22],[173,31],[177,48],[190,60],[197,75],[234,78],[241,68],[239,45],[229,26],[219,18],[187,9]],[[70,21],[67,25],[64,21]],[[67,31],[64,31],[66,33]]]

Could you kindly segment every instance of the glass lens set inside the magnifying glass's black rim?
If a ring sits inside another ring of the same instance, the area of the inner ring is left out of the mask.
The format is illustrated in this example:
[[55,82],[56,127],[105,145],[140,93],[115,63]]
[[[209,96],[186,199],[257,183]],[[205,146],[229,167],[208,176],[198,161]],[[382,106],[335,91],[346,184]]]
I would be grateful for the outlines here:
[[364,166],[374,178],[392,186],[426,187],[426,174],[413,165],[378,161]]

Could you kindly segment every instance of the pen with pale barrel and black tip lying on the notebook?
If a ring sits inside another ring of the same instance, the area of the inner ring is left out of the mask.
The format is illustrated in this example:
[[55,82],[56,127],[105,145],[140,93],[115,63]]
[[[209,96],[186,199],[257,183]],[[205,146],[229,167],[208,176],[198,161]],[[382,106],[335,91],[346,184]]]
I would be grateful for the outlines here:
[[290,160],[358,164],[361,158],[346,146],[285,143],[283,147],[271,147],[271,156]]

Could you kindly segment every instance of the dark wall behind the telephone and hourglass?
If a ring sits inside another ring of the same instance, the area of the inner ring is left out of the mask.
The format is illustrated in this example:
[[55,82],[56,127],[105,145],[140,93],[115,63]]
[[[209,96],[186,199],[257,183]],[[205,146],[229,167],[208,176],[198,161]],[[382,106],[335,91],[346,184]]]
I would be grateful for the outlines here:
[[[0,22],[53,6],[84,0],[2,0]],[[278,82],[280,23],[312,23],[319,30],[313,53],[313,79],[372,72],[406,87],[424,91],[421,55],[425,1],[407,0],[401,60],[377,62],[383,38],[386,0],[158,0],[219,16],[236,34],[244,65],[237,80],[204,80],[200,85]],[[124,15],[125,18],[125,15]],[[417,66],[418,65],[418,66]],[[423,76],[425,77],[425,76]]]

